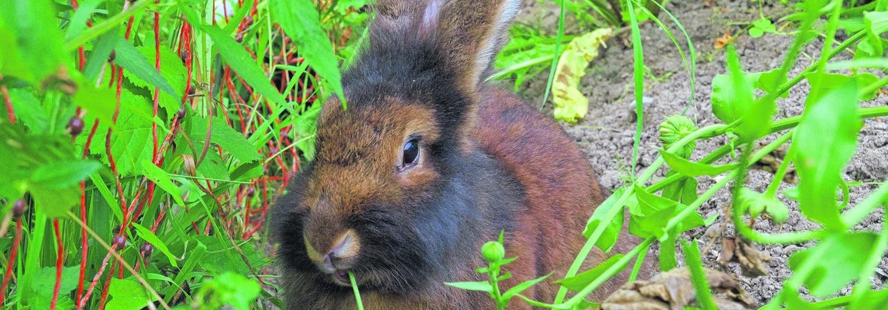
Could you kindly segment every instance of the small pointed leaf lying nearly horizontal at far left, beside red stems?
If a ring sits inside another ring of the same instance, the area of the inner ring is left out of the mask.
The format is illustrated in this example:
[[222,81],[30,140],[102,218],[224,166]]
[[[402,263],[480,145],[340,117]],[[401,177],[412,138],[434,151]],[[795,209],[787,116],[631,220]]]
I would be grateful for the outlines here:
[[101,163],[81,160],[47,163],[34,171],[31,181],[49,188],[73,187],[101,167]]

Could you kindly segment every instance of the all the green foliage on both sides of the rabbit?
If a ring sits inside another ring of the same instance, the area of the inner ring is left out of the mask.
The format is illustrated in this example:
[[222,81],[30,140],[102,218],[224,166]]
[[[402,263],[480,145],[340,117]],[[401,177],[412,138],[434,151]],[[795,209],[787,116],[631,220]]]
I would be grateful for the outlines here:
[[[697,209],[729,188],[729,214],[718,217],[732,222],[744,240],[813,244],[790,258],[792,276],[764,308],[868,309],[888,299],[885,290],[871,285],[888,250],[888,230],[853,228],[885,207],[888,185],[883,181],[866,199],[850,205],[849,184],[841,177],[856,151],[862,120],[888,115],[888,107],[860,107],[888,84],[888,1],[807,0],[778,4],[785,6],[785,16],[759,14],[734,36],[791,38],[781,66],[748,72],[727,42],[719,50],[727,69],[706,90],[712,91],[712,111],[723,123],[700,128],[684,113],[670,116],[659,126],[661,156],[644,171],[634,171],[645,112],[638,25],[653,22],[676,45],[691,77],[688,107],[700,91],[694,83],[694,45],[680,20],[657,1],[558,3],[557,33],[515,26],[511,43],[496,61],[502,71],[491,78],[512,78],[517,90],[549,70],[543,102],[534,103],[542,105],[549,90],[557,93],[554,88],[563,87],[554,83],[570,42],[591,40],[584,35],[595,30],[628,32],[638,116],[633,169],[586,230],[576,232],[589,239],[565,279],[500,287],[498,282],[510,276],[508,264],[520,259],[509,257],[501,237],[480,249],[489,264],[478,266],[478,272],[488,274],[489,281],[449,283],[455,290],[488,292],[498,309],[515,303],[553,309],[607,306],[607,300],[599,305],[585,297],[627,268],[630,279],[636,279],[655,243],[661,245],[656,259],[663,272],[681,268],[675,250],[680,243],[695,297],[681,306],[715,309],[741,303],[716,296],[720,287],[712,279],[720,275],[702,266],[697,242],[685,242],[680,235],[717,220],[704,219]],[[291,173],[313,159],[314,118],[326,96],[343,96],[339,70],[366,34],[372,18],[368,4],[0,1],[6,8],[0,11],[0,163],[8,165],[0,179],[0,305],[282,306],[270,268],[273,258],[267,255],[273,248],[266,234],[267,210]],[[567,12],[586,34],[565,34]],[[670,31],[670,25],[679,31]],[[801,73],[790,74],[801,66],[801,51],[810,44],[821,44],[821,54]],[[843,52],[853,52],[852,60],[835,60]],[[586,61],[594,62],[591,57]],[[778,99],[801,83],[811,85],[805,113],[774,119]],[[574,107],[588,100],[554,97],[556,108],[588,108]],[[716,137],[728,143],[690,160],[698,141]],[[759,142],[764,147],[756,147]],[[744,187],[749,166],[778,147],[789,151],[765,192]],[[799,182],[781,192],[790,167]],[[664,177],[655,178],[657,171]],[[718,181],[700,191],[702,176]],[[755,221],[788,218],[791,211],[779,195],[797,201],[805,219],[821,227],[780,234],[754,229]],[[628,219],[623,219],[624,210]],[[611,250],[624,221],[630,223],[630,234],[644,241],[581,270],[593,248]],[[559,283],[559,298],[521,295],[541,282]],[[853,285],[851,295],[835,296],[848,285]],[[353,289],[362,308],[360,288]]]

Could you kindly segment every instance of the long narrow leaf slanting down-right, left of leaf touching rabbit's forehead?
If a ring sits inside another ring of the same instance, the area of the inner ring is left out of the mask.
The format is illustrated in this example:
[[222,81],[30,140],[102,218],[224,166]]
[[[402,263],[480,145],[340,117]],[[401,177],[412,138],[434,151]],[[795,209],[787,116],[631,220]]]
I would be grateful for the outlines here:
[[[192,22],[195,21],[196,20],[192,20]],[[250,84],[250,87],[258,91],[267,99],[280,104],[286,103],[281,92],[274,89],[268,76],[262,72],[262,69],[258,68],[256,60],[253,60],[250,53],[244,50],[244,47],[241,44],[235,42],[231,36],[228,36],[225,31],[222,31],[222,29],[219,29],[216,26],[201,25],[201,29],[212,38],[213,46],[218,49],[219,54],[222,55],[222,59],[225,60],[228,66],[231,66],[231,68],[234,69],[234,72],[237,72],[244,81]],[[298,42],[298,39],[294,37],[293,41]],[[332,49],[332,47],[330,48]],[[307,57],[308,53],[303,53],[302,55]],[[317,68],[315,69],[317,70]],[[320,72],[320,70],[318,71]]]

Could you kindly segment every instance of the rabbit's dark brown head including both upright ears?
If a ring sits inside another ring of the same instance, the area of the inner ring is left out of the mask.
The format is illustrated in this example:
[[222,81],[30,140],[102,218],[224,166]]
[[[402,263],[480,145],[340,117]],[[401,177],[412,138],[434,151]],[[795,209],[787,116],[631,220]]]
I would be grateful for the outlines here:
[[275,207],[285,266],[335,287],[404,291],[459,229],[439,208],[464,173],[481,80],[519,0],[377,1],[368,43],[329,99],[316,153]]

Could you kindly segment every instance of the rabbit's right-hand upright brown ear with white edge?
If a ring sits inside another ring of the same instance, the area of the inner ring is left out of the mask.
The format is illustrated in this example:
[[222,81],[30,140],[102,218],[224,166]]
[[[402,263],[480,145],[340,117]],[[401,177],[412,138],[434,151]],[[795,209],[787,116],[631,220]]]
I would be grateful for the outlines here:
[[474,93],[508,40],[509,25],[521,0],[449,0],[440,9],[440,18],[429,16],[439,11],[429,9],[436,2],[428,1],[424,20],[440,23],[437,40],[448,67],[454,69],[459,86]]

